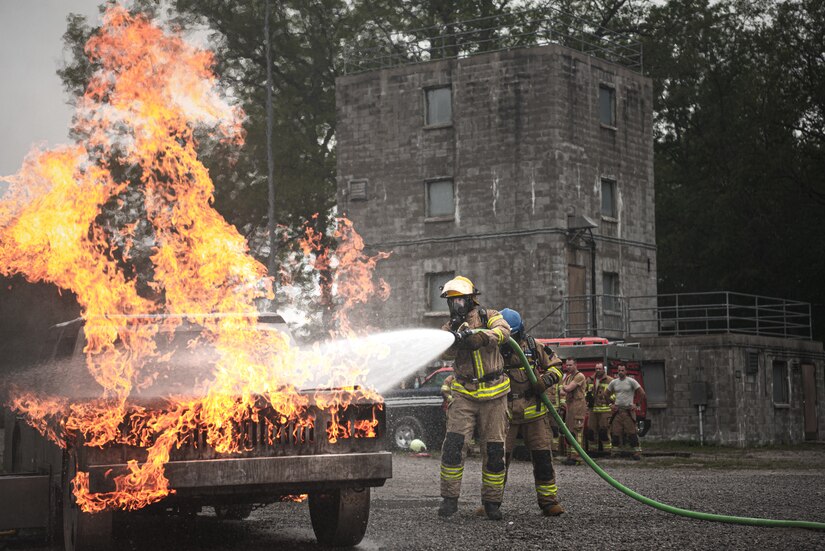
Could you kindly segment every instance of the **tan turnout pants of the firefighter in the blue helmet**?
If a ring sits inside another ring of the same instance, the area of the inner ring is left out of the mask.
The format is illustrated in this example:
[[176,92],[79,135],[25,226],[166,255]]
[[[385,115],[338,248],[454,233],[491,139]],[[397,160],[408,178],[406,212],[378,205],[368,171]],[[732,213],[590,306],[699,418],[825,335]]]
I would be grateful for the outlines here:
[[513,458],[513,448],[519,432],[524,444],[530,450],[530,459],[533,462],[533,479],[536,483],[536,497],[539,507],[552,505],[556,501],[556,473],[553,470],[553,452],[550,444],[550,415],[539,417],[527,423],[511,424],[507,431],[505,446],[505,463],[510,469],[510,460]]

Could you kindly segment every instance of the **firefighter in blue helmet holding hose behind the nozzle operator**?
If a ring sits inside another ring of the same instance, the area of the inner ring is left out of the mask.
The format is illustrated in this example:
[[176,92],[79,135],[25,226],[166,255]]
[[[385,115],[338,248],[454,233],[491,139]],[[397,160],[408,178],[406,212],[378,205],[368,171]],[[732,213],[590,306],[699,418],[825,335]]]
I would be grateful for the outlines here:
[[556,496],[558,488],[556,473],[553,470],[553,452],[550,449],[550,415],[540,397],[548,385],[554,385],[561,380],[562,374],[558,367],[561,361],[558,358],[551,361],[544,347],[524,332],[524,322],[518,312],[505,308],[501,315],[510,326],[511,337],[518,342],[527,361],[533,366],[537,379],[534,386],[524,371],[519,355],[509,343],[504,343],[501,354],[504,357],[504,369],[510,377],[510,392],[507,394],[510,428],[507,430],[507,442],[504,447],[505,464],[509,471],[516,438],[521,434],[533,462],[533,479],[539,509],[544,516],[555,517],[564,513],[564,509],[559,505]]

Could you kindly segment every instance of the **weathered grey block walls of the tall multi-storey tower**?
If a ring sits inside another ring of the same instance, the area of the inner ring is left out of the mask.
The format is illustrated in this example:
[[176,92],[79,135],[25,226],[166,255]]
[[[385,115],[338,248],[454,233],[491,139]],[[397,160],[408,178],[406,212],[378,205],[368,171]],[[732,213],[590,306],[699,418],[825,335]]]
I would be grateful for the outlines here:
[[[599,123],[599,85],[616,90],[615,128]],[[424,90],[452,87],[452,124],[424,125]],[[538,321],[567,293],[567,217],[595,220],[602,272],[624,295],[656,294],[651,81],[560,46],[482,54],[341,77],[338,204],[371,250],[392,251],[378,275],[392,286],[373,318],[428,325],[426,274],[473,279],[492,307]],[[454,181],[455,217],[425,220],[425,182]],[[601,178],[618,186],[618,215],[601,216]],[[351,201],[351,180],[367,200]],[[555,325],[554,325],[555,324]],[[556,335],[558,317],[537,328]]]

